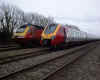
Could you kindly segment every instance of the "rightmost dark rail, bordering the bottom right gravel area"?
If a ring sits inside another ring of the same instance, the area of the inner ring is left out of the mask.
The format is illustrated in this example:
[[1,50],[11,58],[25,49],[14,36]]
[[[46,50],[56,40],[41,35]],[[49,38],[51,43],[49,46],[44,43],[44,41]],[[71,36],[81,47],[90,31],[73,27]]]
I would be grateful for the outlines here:
[[[97,45],[90,47],[89,49],[86,49],[84,51],[81,50],[80,52],[74,53],[74,55],[68,56],[67,60],[65,61],[64,64],[62,64],[60,67],[57,67],[54,71],[50,72],[49,74],[47,74],[46,76],[42,77],[39,80],[50,80],[50,78],[57,74],[60,70],[62,70],[63,68],[65,68],[68,65],[71,65],[73,63],[75,63],[77,60],[79,60],[81,57],[86,56],[88,53],[91,53],[92,50],[94,50],[97,47]],[[63,60],[64,61],[64,60]]]

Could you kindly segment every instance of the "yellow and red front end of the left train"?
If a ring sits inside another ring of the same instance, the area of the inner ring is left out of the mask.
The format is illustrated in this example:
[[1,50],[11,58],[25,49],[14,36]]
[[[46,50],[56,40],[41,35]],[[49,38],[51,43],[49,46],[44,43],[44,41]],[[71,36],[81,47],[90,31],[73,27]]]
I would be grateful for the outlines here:
[[14,40],[17,43],[25,44],[27,41],[32,39],[30,25],[23,25],[19,27],[13,35]]

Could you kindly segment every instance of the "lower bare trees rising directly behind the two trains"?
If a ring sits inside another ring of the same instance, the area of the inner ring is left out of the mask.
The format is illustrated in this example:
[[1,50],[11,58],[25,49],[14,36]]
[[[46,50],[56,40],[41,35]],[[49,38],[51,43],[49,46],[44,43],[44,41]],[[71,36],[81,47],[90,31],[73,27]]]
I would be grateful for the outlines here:
[[39,26],[46,26],[54,22],[52,17],[45,17],[38,13],[24,13],[23,14],[23,23],[30,23]]

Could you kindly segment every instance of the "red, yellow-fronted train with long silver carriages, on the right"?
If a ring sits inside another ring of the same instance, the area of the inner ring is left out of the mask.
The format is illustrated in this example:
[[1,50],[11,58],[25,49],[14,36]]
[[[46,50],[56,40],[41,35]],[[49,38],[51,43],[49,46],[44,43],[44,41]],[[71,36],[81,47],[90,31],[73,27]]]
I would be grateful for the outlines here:
[[69,26],[51,24],[45,27],[41,35],[40,44],[43,46],[57,47],[70,42],[79,43],[96,39],[95,36],[87,34]]

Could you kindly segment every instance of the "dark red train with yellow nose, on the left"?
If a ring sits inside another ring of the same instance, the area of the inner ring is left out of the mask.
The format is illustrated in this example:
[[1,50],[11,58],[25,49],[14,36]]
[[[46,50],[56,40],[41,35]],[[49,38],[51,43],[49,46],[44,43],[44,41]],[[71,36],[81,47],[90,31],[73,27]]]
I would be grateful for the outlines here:
[[40,44],[41,34],[43,31],[42,26],[33,24],[24,24],[14,32],[13,39],[21,46],[32,46]]

